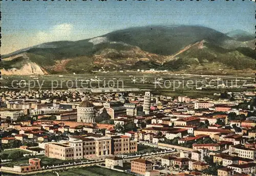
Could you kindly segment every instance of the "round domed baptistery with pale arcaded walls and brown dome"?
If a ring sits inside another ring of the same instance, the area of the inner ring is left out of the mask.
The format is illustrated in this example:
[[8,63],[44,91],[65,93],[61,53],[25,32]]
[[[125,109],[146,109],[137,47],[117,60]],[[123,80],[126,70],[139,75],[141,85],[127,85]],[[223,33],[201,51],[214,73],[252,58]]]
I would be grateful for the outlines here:
[[77,107],[77,121],[85,123],[95,123],[95,108],[88,96]]

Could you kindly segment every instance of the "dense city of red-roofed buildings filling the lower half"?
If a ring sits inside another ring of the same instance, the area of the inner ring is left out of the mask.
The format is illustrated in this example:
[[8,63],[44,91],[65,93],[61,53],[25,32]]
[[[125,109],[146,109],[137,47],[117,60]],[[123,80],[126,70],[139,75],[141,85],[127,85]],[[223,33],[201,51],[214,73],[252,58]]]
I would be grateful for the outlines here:
[[6,90],[4,175],[255,175],[256,99]]

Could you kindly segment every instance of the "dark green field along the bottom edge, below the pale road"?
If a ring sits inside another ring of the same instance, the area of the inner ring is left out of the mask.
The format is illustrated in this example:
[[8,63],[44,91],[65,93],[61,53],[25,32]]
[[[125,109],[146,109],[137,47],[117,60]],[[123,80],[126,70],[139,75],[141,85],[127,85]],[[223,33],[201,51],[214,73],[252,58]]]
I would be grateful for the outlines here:
[[[68,170],[57,170],[59,176],[129,176],[131,174],[118,172],[115,170],[102,168],[99,166],[81,167]],[[14,174],[3,174],[4,176],[11,176]],[[28,174],[29,175],[29,174]],[[33,176],[57,176],[55,172],[45,172],[33,174]]]

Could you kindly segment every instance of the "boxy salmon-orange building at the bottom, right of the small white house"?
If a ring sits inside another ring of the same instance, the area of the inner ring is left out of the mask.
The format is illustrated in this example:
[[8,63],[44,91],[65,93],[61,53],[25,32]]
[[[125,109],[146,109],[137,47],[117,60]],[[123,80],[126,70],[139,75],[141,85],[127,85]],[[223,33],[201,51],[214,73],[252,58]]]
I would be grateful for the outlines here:
[[153,163],[144,159],[136,159],[131,162],[131,171],[145,175],[145,172],[152,171]]

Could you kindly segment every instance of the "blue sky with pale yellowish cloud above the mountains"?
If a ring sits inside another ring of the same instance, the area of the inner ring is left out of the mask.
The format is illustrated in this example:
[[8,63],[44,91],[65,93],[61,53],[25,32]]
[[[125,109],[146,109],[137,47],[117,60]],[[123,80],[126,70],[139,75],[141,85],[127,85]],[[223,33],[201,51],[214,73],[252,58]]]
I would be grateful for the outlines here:
[[97,37],[147,25],[200,25],[227,33],[255,32],[255,2],[225,1],[1,1],[1,54],[36,44]]

